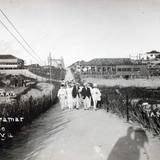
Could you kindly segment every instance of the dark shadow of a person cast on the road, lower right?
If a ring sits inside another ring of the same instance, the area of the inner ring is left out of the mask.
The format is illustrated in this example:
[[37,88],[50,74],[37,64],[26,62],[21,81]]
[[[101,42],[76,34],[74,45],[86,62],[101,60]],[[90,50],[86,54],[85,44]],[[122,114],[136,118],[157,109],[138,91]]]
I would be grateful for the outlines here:
[[118,139],[107,160],[140,160],[140,151],[143,150],[146,159],[149,156],[145,149],[148,137],[143,129],[134,130],[129,127],[127,135]]

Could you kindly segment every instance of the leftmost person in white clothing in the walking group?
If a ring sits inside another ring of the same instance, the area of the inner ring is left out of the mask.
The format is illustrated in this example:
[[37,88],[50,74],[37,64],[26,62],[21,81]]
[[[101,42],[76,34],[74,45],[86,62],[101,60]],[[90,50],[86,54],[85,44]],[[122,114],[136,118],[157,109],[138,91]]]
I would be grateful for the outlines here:
[[61,87],[58,90],[57,96],[60,100],[61,109],[64,110],[67,105],[67,92],[66,92],[65,85],[63,83],[61,84]]

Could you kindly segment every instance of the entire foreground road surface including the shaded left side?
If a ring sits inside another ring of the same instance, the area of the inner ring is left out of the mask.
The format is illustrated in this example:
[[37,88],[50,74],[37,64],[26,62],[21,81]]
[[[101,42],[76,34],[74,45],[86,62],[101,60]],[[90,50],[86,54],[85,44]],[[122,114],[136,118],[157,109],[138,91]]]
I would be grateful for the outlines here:
[[[1,147],[0,159],[107,160],[115,143],[126,135],[130,126],[124,119],[104,110],[61,111],[57,104],[18,133],[10,144]],[[149,159],[159,160],[160,141],[149,133],[147,136]],[[147,160],[143,152],[134,160]],[[128,157],[134,157],[134,154],[133,150]]]

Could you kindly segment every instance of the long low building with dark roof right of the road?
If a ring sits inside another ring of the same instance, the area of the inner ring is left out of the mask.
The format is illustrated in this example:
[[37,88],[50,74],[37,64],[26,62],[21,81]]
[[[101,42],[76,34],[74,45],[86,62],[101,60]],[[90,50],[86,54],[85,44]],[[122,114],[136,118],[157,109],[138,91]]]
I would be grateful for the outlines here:
[[129,58],[97,58],[77,62],[75,66],[82,77],[142,78],[148,77],[147,66]]

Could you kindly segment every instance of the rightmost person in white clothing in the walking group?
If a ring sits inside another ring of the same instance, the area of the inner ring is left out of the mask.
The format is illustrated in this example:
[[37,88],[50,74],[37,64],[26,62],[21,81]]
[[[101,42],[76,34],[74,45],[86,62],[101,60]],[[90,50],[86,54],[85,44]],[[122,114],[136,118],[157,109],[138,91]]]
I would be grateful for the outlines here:
[[93,99],[93,108],[97,109],[97,102],[101,100],[101,92],[97,88],[97,84],[93,84],[93,89],[91,91],[92,99]]

